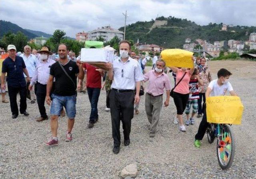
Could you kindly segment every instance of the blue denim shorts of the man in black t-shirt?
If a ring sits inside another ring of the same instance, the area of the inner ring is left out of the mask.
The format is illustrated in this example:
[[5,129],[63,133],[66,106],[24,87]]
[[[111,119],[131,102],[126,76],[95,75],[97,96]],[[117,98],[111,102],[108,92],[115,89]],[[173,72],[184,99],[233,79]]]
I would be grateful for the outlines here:
[[66,114],[68,118],[74,119],[76,117],[76,95],[59,96],[52,94],[52,105],[50,109],[50,114],[60,116],[63,106],[66,109]]

